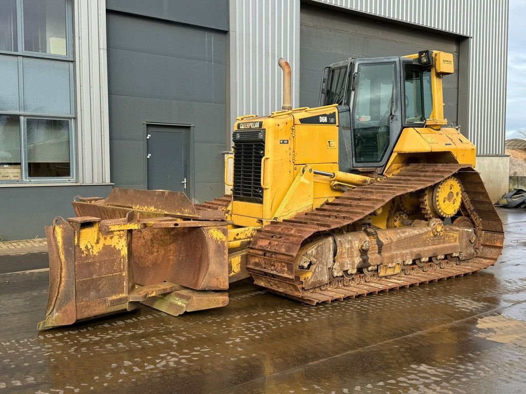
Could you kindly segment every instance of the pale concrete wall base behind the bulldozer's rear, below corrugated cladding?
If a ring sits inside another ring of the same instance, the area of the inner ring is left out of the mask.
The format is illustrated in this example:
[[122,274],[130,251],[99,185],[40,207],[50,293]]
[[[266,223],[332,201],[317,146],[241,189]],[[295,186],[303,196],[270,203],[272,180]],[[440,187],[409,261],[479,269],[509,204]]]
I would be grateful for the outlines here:
[[501,155],[477,156],[475,167],[488,190],[491,201],[495,202],[508,192],[510,157]]

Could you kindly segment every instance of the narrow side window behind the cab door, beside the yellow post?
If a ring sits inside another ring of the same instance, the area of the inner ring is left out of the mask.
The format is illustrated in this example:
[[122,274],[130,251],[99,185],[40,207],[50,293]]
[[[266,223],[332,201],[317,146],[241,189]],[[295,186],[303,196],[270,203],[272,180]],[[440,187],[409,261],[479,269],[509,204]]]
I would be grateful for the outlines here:
[[404,67],[404,88],[406,99],[406,123],[426,123],[431,115],[431,71],[406,64]]

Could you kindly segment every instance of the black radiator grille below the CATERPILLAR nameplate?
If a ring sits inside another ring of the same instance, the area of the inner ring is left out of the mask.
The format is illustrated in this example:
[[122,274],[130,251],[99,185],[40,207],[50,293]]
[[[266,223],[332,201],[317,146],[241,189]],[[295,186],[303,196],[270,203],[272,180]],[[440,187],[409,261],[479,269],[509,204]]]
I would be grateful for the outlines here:
[[265,130],[236,131],[234,140],[234,200],[263,202],[261,159],[265,155]]

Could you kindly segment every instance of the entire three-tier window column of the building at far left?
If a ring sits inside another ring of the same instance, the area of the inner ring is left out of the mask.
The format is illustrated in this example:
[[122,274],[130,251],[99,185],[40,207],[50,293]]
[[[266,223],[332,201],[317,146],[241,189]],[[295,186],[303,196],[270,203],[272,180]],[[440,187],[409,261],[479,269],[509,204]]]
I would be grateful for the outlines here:
[[75,181],[72,0],[0,0],[0,184]]

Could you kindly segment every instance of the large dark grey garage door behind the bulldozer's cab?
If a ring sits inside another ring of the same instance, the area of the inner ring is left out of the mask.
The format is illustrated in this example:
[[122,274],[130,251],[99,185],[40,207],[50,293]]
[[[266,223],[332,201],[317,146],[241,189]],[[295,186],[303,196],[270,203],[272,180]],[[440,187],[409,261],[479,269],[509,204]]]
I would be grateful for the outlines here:
[[[367,19],[335,9],[301,5],[300,106],[317,106],[323,67],[349,57],[401,56],[422,49],[453,53],[458,71],[459,43],[454,37],[414,27]],[[444,115],[457,123],[458,74],[444,77]]]

